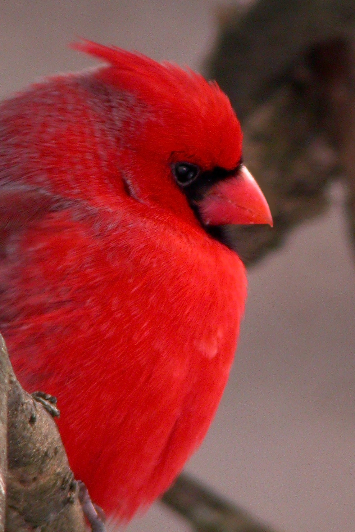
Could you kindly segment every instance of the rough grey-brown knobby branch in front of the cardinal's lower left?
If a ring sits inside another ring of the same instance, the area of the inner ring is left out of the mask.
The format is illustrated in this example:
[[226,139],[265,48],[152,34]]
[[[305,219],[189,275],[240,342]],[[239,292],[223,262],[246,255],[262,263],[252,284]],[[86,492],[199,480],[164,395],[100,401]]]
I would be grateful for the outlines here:
[[0,532],[31,530],[84,532],[84,515],[55,422],[20,386],[0,335]]

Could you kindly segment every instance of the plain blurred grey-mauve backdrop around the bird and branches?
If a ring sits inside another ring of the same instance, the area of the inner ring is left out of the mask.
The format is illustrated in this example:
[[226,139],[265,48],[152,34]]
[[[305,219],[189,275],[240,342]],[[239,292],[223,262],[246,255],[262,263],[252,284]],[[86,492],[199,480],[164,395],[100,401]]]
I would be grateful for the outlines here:
[[[94,64],[77,36],[201,69],[219,0],[0,2],[0,93]],[[332,209],[249,274],[237,359],[186,470],[285,532],[355,529],[355,262]],[[129,532],[187,530],[156,504]]]

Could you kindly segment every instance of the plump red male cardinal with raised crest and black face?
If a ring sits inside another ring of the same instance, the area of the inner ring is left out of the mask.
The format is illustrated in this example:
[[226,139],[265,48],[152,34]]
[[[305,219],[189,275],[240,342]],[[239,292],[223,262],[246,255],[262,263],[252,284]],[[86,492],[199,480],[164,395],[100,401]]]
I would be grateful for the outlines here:
[[58,398],[76,478],[121,519],[200,445],[244,309],[209,228],[272,223],[215,82],[89,41],[106,62],[0,106],[0,330]]

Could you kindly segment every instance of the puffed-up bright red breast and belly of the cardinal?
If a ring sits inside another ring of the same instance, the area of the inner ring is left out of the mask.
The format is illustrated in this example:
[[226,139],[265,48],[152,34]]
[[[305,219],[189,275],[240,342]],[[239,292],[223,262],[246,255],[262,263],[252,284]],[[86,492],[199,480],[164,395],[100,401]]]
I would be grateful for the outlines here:
[[129,517],[169,486],[210,425],[245,273],[202,229],[99,221],[57,212],[16,240],[2,264],[3,331],[21,384],[58,398],[76,477]]

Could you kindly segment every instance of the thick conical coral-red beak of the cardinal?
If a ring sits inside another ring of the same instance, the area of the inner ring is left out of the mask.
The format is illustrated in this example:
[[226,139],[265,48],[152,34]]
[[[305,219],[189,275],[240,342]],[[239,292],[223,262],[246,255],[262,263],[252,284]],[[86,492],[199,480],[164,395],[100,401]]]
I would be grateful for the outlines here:
[[273,227],[268,202],[245,166],[236,176],[212,186],[198,205],[206,226],[267,223]]

